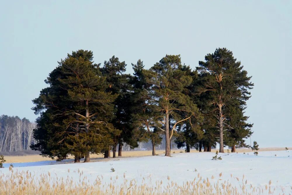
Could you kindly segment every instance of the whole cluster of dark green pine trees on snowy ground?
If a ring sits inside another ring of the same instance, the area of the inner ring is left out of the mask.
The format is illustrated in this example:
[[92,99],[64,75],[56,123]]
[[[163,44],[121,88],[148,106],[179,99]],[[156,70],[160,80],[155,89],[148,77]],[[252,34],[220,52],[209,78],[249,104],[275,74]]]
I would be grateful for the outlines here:
[[58,62],[33,100],[40,114],[34,130],[32,149],[58,160],[75,156],[75,162],[90,153],[105,158],[121,156],[123,144],[138,142],[155,146],[165,136],[165,156],[171,141],[179,148],[211,151],[246,146],[252,124],[244,115],[250,98],[251,77],[231,51],[218,48],[199,61],[194,70],[181,62],[180,55],[166,55],[151,68],[143,61],[126,63],[113,56],[103,65],[93,61],[91,51],[78,50]]

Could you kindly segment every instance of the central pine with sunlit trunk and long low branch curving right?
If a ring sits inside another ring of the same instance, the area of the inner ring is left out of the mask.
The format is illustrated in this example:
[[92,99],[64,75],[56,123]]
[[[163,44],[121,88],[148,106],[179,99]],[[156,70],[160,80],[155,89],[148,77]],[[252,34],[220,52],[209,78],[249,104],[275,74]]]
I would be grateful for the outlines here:
[[[180,55],[166,55],[145,77],[151,87],[149,105],[157,115],[155,127],[163,131],[166,140],[165,156],[170,156],[170,141],[177,125],[199,115],[197,106],[183,92],[191,84],[192,77],[182,70]],[[184,117],[182,117],[184,113]]]

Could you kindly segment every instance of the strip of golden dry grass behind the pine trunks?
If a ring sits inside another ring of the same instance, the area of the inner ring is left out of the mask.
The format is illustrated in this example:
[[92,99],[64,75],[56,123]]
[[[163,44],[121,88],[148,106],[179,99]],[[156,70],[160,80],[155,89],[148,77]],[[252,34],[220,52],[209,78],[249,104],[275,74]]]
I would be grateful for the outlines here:
[[[212,152],[216,152],[218,149],[212,149]],[[261,151],[281,151],[285,150],[285,148],[261,148],[259,152]],[[180,153],[185,152],[185,150],[172,150],[172,152]],[[227,149],[224,150],[227,152]],[[236,149],[237,152],[252,152],[251,149]],[[198,152],[196,150],[191,150],[191,152]],[[231,152],[231,149],[230,149]],[[163,154],[164,150],[157,150],[157,154]],[[112,153],[111,153],[112,155]],[[138,156],[151,156],[152,151],[123,151],[122,156],[123,157],[138,157]],[[116,156],[118,156],[118,153],[116,153]],[[102,154],[91,154],[90,158],[102,158]],[[73,156],[69,156],[68,158],[74,159]],[[40,155],[27,155],[27,156],[5,156],[6,163],[27,163],[27,162],[38,162],[38,161],[51,161],[51,158],[42,157]]]

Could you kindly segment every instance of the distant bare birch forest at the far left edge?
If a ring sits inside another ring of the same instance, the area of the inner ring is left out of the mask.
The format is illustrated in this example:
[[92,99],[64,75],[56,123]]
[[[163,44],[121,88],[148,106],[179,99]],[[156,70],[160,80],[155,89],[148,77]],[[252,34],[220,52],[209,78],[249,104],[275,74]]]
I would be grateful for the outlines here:
[[29,150],[35,144],[33,130],[36,123],[18,116],[0,116],[0,152]]

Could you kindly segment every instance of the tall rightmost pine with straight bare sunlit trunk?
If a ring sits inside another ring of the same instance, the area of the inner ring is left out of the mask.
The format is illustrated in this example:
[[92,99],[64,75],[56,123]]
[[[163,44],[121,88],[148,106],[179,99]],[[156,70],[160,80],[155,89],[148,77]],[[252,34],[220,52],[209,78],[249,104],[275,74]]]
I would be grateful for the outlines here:
[[198,94],[208,93],[212,97],[209,101],[213,105],[214,115],[218,120],[219,152],[224,153],[223,132],[233,127],[227,123],[232,103],[234,101],[246,101],[250,98],[248,89],[253,84],[249,82],[247,72],[242,70],[241,63],[233,57],[231,51],[226,48],[218,48],[213,54],[205,56],[205,62],[200,61],[197,70],[203,78],[202,86],[198,88]]

